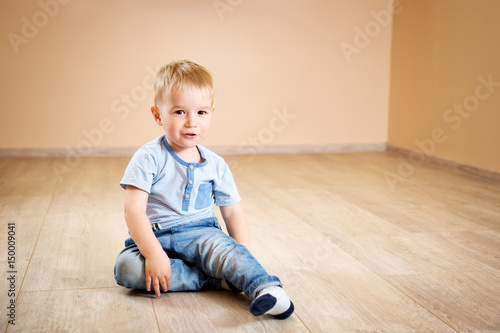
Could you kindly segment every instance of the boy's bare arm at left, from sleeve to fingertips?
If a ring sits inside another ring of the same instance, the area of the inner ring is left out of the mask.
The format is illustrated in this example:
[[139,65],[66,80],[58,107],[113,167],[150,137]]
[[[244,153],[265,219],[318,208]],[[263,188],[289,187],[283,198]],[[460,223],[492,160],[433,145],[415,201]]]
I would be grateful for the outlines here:
[[137,244],[139,251],[146,258],[146,290],[151,290],[151,283],[156,296],[160,296],[160,285],[164,291],[170,288],[172,273],[170,259],[156,239],[148,216],[146,206],[148,193],[137,187],[127,185],[125,191],[125,221],[130,236]]

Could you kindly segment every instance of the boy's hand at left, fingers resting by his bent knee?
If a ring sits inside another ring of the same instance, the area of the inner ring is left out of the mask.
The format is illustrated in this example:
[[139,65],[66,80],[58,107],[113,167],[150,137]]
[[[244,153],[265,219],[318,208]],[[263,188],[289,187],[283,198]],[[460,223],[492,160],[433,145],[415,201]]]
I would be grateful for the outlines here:
[[172,272],[170,270],[170,259],[165,252],[146,258],[146,290],[151,291],[151,283],[156,297],[160,297],[160,286],[164,292],[170,288]]

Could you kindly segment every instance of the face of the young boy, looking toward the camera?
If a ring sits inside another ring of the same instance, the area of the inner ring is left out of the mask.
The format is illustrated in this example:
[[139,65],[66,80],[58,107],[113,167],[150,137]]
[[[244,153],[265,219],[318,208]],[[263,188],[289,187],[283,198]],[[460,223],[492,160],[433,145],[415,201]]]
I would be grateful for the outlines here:
[[165,93],[151,112],[165,130],[170,147],[182,152],[196,149],[208,135],[214,108],[208,92],[186,86],[175,93]]

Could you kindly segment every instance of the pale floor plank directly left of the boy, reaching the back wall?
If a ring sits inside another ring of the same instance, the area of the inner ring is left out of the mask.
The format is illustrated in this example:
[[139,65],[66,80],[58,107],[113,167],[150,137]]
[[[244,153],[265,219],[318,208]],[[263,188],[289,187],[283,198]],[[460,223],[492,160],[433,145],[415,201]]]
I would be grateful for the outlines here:
[[113,267],[128,237],[119,186],[126,162],[87,158],[58,178],[23,290],[116,285]]

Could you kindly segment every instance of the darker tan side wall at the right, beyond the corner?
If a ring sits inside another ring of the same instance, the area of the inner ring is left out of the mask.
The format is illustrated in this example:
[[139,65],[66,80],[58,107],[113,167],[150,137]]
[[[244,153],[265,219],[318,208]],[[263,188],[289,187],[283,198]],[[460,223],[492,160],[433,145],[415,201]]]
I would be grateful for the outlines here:
[[499,13],[497,0],[419,0],[394,16],[390,144],[500,171]]

